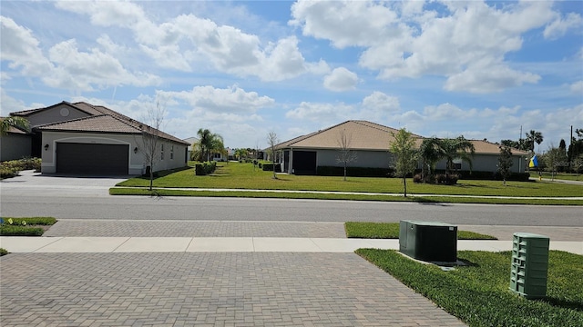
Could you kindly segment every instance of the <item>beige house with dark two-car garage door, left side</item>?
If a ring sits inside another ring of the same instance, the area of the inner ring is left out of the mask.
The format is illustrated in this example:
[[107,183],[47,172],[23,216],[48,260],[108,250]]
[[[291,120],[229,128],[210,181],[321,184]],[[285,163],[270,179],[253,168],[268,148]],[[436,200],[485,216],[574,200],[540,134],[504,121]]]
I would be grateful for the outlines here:
[[42,173],[145,173],[145,140],[152,135],[158,137],[159,144],[154,171],[187,164],[188,143],[104,106],[62,102],[11,115],[29,121],[29,155],[42,158]]

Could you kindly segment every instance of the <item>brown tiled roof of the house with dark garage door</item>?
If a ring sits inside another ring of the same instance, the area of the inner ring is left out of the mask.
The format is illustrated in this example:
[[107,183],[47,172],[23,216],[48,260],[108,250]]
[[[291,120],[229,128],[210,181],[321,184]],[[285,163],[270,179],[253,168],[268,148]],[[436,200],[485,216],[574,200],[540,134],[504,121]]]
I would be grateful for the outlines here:
[[32,110],[25,110],[21,112],[12,113],[12,115],[29,116],[40,111],[45,111],[56,107],[57,105],[66,104],[77,110],[89,114],[87,117],[66,120],[59,123],[44,124],[36,126],[35,129],[39,131],[55,131],[55,132],[79,132],[79,133],[114,133],[114,134],[158,134],[159,137],[169,141],[177,142],[179,144],[187,144],[170,134],[166,134],[158,129],[148,126],[132,119],[124,114],[119,114],[102,105],[87,104],[85,102],[78,102],[75,104],[63,101],[60,104],[53,104],[45,108],[38,108]]

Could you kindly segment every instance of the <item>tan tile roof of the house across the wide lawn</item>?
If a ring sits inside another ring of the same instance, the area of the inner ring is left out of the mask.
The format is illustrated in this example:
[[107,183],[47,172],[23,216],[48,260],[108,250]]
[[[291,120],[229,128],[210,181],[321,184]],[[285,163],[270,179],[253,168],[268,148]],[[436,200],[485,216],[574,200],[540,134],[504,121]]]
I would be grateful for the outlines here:
[[[390,144],[394,142],[393,133],[398,130],[374,124],[367,121],[351,120],[342,124],[323,129],[312,134],[298,136],[289,141],[277,145],[277,149],[338,149],[340,133],[344,131],[350,138],[350,148],[355,150],[388,151]],[[419,146],[424,137],[413,134],[415,144]],[[476,148],[476,154],[499,154],[499,144],[493,144],[483,140],[469,140]],[[512,149],[512,154],[527,155],[528,153]]]

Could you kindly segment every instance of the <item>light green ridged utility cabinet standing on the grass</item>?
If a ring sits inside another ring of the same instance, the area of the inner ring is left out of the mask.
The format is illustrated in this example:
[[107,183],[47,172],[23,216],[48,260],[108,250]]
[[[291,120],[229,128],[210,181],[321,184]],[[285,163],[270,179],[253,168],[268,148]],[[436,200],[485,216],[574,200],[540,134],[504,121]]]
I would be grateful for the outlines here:
[[548,237],[514,233],[510,290],[527,299],[547,295]]

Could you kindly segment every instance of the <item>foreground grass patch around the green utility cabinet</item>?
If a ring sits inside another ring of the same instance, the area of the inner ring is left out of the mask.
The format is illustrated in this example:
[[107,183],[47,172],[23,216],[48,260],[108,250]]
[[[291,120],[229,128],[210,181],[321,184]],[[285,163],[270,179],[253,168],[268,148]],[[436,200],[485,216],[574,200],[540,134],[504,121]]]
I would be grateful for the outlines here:
[[508,290],[510,252],[459,251],[469,265],[450,272],[392,250],[356,253],[470,326],[583,326],[581,255],[551,251],[547,298],[527,300]]

